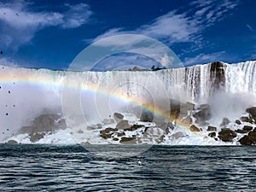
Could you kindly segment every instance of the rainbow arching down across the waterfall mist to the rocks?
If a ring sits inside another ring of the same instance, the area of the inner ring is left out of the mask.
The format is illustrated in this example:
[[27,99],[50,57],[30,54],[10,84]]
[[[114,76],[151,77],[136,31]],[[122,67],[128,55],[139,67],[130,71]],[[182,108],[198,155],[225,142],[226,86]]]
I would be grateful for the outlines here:
[[[131,98],[122,92],[121,90],[111,93],[108,88],[102,88],[98,84],[77,84],[76,81],[65,82],[67,71],[51,71],[48,69],[26,69],[26,68],[12,68],[6,67],[0,69],[0,86],[2,84],[30,84],[37,87],[53,87],[54,89],[79,89],[81,92],[100,93],[104,96],[111,96],[115,100],[120,102],[129,103],[144,103],[142,98]],[[71,72],[75,73],[75,72]],[[79,73],[79,72],[78,72]],[[83,72],[82,72],[83,73]],[[81,73],[81,74],[82,74]],[[148,103],[142,106],[143,110],[147,110],[151,113],[164,117],[165,119],[175,122],[184,131],[189,131],[189,126],[184,124],[181,119],[172,119],[169,114],[166,114],[161,108],[154,106],[154,104]],[[192,132],[195,137],[200,137],[200,133]]]

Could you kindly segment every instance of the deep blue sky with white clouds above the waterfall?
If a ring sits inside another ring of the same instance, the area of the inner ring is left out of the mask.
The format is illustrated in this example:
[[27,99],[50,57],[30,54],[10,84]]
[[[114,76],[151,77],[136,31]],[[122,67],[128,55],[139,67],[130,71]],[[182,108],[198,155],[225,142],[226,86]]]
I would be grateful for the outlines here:
[[[125,33],[159,40],[184,66],[255,60],[255,8],[254,0],[2,0],[0,64],[67,69],[86,46]],[[126,57],[106,62],[143,61]]]

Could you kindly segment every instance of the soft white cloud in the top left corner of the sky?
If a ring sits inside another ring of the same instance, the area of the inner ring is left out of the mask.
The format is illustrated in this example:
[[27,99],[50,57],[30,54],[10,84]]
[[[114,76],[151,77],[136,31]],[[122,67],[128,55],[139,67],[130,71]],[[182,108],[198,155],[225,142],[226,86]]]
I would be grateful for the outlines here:
[[0,26],[2,34],[0,41],[3,48],[17,49],[20,44],[29,43],[35,33],[47,26],[74,28],[88,22],[92,12],[84,3],[68,5],[67,12],[33,12],[29,3],[13,1],[0,3]]

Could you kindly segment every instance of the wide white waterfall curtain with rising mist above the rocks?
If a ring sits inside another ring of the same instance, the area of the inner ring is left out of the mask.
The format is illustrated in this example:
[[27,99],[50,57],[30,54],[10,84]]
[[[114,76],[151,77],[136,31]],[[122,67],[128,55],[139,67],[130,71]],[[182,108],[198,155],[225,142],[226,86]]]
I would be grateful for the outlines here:
[[[108,118],[108,115],[124,106],[128,108],[131,101],[142,104],[160,100],[156,104],[165,108],[169,98],[183,102],[211,103],[216,117],[233,119],[245,108],[256,105],[255,66],[256,61],[224,64],[225,82],[219,92],[213,88],[211,64],[157,72],[105,73],[1,67],[0,142],[11,137],[23,125],[31,125],[31,120],[40,113],[62,113],[63,86],[67,93],[64,108],[68,113],[65,115],[76,113],[78,108],[82,108],[86,118],[94,122]],[[71,87],[67,87],[67,77]],[[77,93],[80,90],[77,88],[80,83],[85,86],[94,84],[94,88],[83,90],[81,100],[78,101]]]

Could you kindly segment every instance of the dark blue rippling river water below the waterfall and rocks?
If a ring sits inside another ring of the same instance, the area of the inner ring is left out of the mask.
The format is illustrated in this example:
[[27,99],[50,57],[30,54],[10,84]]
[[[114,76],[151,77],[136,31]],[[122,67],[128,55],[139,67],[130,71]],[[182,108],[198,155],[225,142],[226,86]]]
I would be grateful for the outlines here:
[[255,147],[239,146],[154,146],[120,159],[79,145],[2,144],[0,191],[256,191],[255,158]]

